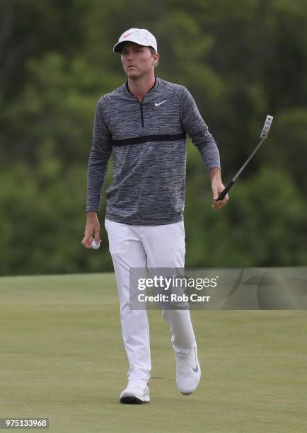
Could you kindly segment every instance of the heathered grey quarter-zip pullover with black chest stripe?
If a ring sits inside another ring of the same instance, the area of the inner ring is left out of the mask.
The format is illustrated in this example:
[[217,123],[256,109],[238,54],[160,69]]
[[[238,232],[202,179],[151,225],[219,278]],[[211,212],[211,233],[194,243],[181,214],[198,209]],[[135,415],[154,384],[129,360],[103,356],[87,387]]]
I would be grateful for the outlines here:
[[156,78],[142,103],[127,83],[97,103],[88,161],[86,212],[98,212],[112,153],[113,179],[105,217],[155,226],[183,219],[186,134],[207,171],[220,168],[219,150],[187,88]]

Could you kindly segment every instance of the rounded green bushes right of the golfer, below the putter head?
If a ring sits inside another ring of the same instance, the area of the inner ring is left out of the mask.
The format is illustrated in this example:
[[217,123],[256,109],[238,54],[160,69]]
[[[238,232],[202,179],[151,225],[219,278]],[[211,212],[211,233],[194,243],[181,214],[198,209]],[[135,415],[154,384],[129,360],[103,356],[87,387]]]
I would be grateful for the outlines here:
[[306,204],[287,173],[268,164],[250,178],[243,172],[229,204],[216,212],[197,151],[192,153],[185,209],[187,267],[306,265]]

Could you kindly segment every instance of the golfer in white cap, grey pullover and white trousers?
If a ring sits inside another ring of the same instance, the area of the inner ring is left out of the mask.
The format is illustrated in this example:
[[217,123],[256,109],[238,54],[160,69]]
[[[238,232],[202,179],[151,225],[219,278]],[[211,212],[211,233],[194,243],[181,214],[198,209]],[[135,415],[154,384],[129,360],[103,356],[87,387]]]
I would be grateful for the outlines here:
[[[146,308],[129,308],[131,268],[185,266],[186,134],[199,149],[212,181],[214,201],[224,190],[219,150],[187,88],[155,76],[157,42],[131,28],[113,48],[127,81],[97,103],[88,161],[86,229],[82,244],[100,243],[98,211],[112,154],[113,179],[106,192],[105,229],[120,299],[122,337],[129,362],[121,403],[149,402],[151,352]],[[197,343],[188,309],[163,309],[175,353],[176,383],[184,395],[200,380]]]

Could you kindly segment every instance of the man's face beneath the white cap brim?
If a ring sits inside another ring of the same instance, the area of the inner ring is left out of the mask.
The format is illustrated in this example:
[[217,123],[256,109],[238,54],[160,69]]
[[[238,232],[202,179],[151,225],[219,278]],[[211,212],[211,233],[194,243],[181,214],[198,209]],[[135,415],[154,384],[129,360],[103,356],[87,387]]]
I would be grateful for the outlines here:
[[139,78],[149,74],[158,61],[158,53],[151,54],[149,47],[127,42],[120,53],[122,67],[129,78]]

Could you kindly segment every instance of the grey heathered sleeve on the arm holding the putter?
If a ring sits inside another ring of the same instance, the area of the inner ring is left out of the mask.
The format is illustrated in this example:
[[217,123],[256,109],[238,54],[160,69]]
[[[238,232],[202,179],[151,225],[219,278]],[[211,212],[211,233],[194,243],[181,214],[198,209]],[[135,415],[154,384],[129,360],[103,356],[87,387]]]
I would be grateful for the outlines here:
[[182,88],[181,123],[183,129],[191,137],[193,144],[197,146],[207,171],[209,172],[214,167],[221,168],[216,142],[202,119],[191,93],[184,86]]

